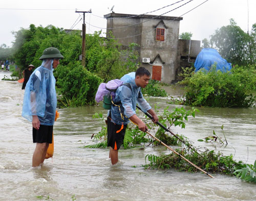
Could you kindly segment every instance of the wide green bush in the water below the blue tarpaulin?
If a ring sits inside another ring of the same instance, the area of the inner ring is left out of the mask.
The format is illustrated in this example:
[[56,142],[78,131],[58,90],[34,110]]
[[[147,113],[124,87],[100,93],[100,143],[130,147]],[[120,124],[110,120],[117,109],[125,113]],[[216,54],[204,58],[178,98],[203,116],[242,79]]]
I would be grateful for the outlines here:
[[184,81],[187,84],[184,103],[193,106],[249,107],[255,103],[256,71],[253,66],[236,67],[222,73],[212,66],[209,72],[201,70],[190,74]]

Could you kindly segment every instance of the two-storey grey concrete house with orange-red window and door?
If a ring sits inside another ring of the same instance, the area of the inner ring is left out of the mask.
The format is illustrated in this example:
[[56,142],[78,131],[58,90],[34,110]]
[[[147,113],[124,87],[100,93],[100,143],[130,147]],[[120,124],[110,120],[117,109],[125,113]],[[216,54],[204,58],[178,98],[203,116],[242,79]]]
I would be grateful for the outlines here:
[[151,72],[152,79],[164,83],[177,80],[178,50],[184,49],[178,48],[182,17],[109,13],[104,18],[108,37],[111,31],[123,46],[139,44],[141,66]]

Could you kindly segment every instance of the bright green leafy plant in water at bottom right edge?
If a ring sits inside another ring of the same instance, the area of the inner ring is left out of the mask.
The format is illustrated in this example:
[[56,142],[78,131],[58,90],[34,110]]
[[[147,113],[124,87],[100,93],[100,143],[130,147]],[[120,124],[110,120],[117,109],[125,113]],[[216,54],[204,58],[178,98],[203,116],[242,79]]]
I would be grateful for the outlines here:
[[254,165],[246,164],[246,167],[234,171],[234,175],[236,175],[241,180],[256,184],[256,160]]

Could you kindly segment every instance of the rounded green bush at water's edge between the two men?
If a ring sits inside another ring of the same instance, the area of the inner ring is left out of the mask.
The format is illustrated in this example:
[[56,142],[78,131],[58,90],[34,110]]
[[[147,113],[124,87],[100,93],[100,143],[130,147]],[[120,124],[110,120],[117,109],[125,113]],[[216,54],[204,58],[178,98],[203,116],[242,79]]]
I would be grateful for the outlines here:
[[95,103],[95,94],[102,80],[81,65],[58,66],[56,86],[61,93],[60,107],[83,106]]

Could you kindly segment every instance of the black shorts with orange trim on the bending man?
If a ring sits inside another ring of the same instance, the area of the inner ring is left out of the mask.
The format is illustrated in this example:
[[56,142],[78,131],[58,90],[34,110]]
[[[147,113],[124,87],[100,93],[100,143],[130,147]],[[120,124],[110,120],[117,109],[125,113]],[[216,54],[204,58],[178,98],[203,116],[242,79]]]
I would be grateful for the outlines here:
[[123,144],[126,125],[118,125],[111,122],[111,116],[108,117],[108,147],[118,150]]

